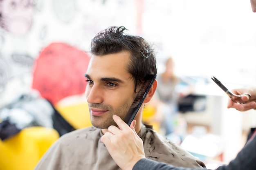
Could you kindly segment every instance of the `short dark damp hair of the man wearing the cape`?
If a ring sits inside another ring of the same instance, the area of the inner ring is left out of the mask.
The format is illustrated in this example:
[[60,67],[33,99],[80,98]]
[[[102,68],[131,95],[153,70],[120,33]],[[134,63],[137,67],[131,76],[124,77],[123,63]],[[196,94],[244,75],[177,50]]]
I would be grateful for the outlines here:
[[[156,58],[152,47],[143,38],[125,33],[124,26],[110,26],[100,31],[91,43],[93,55],[108,55],[129,51],[131,53],[128,73],[135,80],[135,91],[137,86],[146,80],[148,75],[157,74]],[[120,60],[122,60],[120,58]]]

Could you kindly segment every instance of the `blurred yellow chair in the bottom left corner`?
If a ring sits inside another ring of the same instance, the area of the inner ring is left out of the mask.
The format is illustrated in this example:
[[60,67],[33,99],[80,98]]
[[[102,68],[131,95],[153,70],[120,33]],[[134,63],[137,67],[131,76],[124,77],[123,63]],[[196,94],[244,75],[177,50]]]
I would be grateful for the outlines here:
[[0,170],[33,170],[59,138],[52,128],[29,127],[4,141],[0,140]]

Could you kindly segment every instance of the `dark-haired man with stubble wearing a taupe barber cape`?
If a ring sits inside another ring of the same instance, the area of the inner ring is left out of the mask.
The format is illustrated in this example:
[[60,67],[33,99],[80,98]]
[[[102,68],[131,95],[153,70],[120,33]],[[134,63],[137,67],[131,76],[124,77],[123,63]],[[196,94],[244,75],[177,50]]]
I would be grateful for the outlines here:
[[[157,74],[155,54],[148,42],[128,35],[123,26],[99,32],[92,40],[91,53],[85,73],[88,82],[85,95],[93,126],[63,135],[49,148],[35,170],[120,169],[101,137],[109,126],[117,126],[113,115],[124,119],[145,78]],[[146,157],[175,166],[204,168],[202,161],[142,124],[144,103],[150,101],[156,87],[157,81],[135,117],[135,131],[144,142]]]

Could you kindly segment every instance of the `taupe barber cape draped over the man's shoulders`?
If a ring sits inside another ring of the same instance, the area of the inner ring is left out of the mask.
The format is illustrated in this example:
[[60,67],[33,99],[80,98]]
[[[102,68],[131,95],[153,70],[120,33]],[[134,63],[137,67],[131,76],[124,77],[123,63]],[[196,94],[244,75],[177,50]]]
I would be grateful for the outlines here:
[[[101,129],[93,126],[61,136],[41,158],[34,170],[121,170],[101,142]],[[205,168],[202,161],[142,125],[139,137],[146,157],[159,162],[188,168]]]

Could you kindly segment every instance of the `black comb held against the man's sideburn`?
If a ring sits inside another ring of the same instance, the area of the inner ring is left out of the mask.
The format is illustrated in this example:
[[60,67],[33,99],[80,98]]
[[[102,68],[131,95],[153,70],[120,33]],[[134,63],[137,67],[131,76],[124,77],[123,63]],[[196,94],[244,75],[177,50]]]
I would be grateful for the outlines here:
[[153,85],[155,78],[157,75],[149,75],[144,84],[142,85],[141,89],[139,90],[139,93],[135,97],[134,101],[132,102],[132,105],[130,106],[130,109],[128,110],[126,117],[124,118],[124,121],[126,124],[130,126],[132,123],[132,120],[136,116],[141,104],[143,103],[144,99],[146,98],[151,86]]

